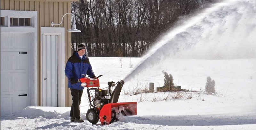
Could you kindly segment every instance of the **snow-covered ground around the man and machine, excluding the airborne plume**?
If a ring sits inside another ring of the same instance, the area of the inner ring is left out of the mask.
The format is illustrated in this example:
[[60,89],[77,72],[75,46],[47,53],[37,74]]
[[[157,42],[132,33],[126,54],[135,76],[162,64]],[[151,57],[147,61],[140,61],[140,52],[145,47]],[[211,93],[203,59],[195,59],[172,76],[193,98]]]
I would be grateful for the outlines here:
[[[123,68],[121,68],[118,59],[117,57],[90,57],[96,75],[103,75],[100,77],[100,82],[120,81],[122,76],[125,76],[133,69],[130,68],[130,58],[123,58]],[[141,59],[131,58],[134,65]],[[152,75],[141,73],[138,75],[140,77],[139,79],[135,78],[124,83],[119,98],[119,102],[138,102],[137,116],[123,117],[119,122],[102,126],[100,122],[96,125],[92,125],[88,121],[71,123],[69,121],[70,107],[27,107],[11,116],[2,116],[1,130],[254,130],[256,128],[256,95],[254,93],[256,83],[255,58],[238,60],[173,59],[173,61],[170,63],[170,67],[165,69],[166,72],[173,74],[175,78],[174,83],[178,84],[179,82],[182,89],[199,90],[201,88],[201,92],[184,92],[184,98],[176,100],[172,98],[175,96],[175,93],[169,92],[124,95],[124,91],[137,87],[132,84],[137,85],[138,83],[138,86],[144,89],[149,86],[149,82],[154,81],[155,88],[162,86],[164,75],[161,71],[164,68],[151,68],[155,71]],[[100,65],[101,63],[106,64],[103,66]],[[179,73],[179,80],[175,73]],[[215,88],[220,94],[209,95],[204,92],[207,76],[211,76],[215,80]],[[138,81],[140,79],[143,80],[141,83]],[[106,86],[103,84],[101,87],[104,88]],[[191,99],[187,98],[189,95],[192,97]],[[152,102],[153,99],[155,99],[154,102]],[[84,91],[81,104],[81,118],[84,120],[86,119],[85,115],[88,109],[87,94]]]

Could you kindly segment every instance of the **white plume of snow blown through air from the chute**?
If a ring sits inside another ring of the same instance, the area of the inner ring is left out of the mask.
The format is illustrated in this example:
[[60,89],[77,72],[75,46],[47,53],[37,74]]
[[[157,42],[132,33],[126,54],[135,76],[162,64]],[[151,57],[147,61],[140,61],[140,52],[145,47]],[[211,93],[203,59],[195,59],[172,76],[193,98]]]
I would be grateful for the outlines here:
[[256,58],[255,0],[227,0],[166,34],[123,80],[170,58]]

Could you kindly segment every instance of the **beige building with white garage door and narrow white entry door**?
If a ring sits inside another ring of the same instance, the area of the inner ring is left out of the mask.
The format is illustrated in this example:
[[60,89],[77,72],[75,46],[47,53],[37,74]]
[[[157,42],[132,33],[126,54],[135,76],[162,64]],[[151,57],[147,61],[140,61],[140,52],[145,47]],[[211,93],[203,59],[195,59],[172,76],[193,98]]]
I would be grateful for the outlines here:
[[[1,0],[1,115],[27,106],[71,106],[71,2]],[[75,33],[75,32],[73,32]]]

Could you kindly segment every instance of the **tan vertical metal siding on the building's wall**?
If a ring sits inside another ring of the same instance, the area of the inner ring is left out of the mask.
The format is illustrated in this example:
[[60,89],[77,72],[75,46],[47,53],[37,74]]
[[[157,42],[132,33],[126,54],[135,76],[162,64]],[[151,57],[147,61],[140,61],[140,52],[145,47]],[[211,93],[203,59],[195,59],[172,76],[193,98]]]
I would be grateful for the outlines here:
[[[51,22],[56,24],[61,22],[61,18],[66,13],[71,13],[71,1],[78,0],[1,0],[1,10],[15,10],[15,11],[37,11],[37,47],[38,47],[38,59],[41,59],[41,27],[51,27]],[[65,28],[65,62],[71,56],[71,32],[66,30],[71,28],[71,15],[66,15],[63,18],[61,25],[54,25],[54,27]],[[41,60],[38,60],[38,105],[41,105]],[[68,84],[65,81],[66,85]],[[63,86],[64,87],[64,86]],[[70,93],[68,87],[65,86],[65,106],[71,106]]]

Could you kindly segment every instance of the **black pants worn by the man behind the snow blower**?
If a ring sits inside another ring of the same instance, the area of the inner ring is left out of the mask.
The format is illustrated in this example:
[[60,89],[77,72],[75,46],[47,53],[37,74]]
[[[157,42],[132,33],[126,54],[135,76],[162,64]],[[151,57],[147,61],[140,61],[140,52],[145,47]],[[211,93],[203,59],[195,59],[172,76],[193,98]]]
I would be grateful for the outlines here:
[[70,110],[70,117],[80,118],[80,107],[83,90],[71,89],[72,105]]

